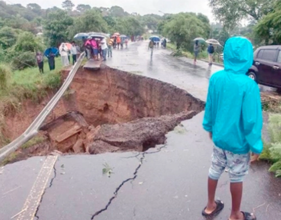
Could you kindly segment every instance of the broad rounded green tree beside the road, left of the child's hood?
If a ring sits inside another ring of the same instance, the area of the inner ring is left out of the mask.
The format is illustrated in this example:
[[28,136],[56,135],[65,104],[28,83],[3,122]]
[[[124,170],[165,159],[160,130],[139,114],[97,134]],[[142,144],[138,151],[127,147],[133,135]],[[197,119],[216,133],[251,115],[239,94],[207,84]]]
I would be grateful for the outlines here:
[[207,37],[208,32],[204,28],[204,23],[196,15],[180,13],[174,15],[165,24],[163,33],[176,44],[177,50],[180,48],[191,50],[192,40],[194,38]]

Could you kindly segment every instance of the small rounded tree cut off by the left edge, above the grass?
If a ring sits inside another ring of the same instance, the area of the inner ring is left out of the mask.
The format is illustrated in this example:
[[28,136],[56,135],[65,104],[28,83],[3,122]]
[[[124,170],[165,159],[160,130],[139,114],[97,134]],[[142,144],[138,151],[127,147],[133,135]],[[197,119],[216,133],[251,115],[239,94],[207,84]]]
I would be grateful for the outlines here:
[[6,50],[13,46],[16,42],[17,33],[16,30],[10,27],[4,27],[0,29],[0,45]]

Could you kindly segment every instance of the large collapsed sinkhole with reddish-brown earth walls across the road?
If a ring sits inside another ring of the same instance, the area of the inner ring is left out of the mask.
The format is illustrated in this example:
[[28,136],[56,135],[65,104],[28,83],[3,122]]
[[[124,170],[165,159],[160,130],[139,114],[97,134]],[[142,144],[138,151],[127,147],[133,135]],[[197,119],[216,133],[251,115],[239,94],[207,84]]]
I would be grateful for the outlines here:
[[81,68],[62,103],[56,107],[61,116],[40,129],[44,143],[29,148],[29,155],[146,151],[205,106],[171,84],[106,66]]

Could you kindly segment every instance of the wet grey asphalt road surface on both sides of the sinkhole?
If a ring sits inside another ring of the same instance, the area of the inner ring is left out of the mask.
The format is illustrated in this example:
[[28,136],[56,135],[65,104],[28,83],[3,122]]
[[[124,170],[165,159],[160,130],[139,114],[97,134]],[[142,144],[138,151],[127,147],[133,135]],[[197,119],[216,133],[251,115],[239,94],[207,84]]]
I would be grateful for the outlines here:
[[[145,42],[114,51],[111,67],[155,78],[186,89],[205,100],[210,75],[221,67],[169,57],[156,50],[152,61]],[[186,62],[187,61],[187,62]],[[212,142],[203,131],[203,112],[167,134],[167,143],[147,152],[107,153],[58,157],[35,217],[29,219],[201,220],[207,202],[207,178]],[[0,169],[0,219],[22,211],[46,157],[6,165]],[[108,164],[113,174],[103,175]],[[267,172],[269,165],[251,166],[245,179],[242,209],[258,219],[279,219],[281,181]],[[231,208],[229,180],[223,174],[217,198],[225,208],[216,219],[227,219]],[[16,215],[13,219],[17,219]]]

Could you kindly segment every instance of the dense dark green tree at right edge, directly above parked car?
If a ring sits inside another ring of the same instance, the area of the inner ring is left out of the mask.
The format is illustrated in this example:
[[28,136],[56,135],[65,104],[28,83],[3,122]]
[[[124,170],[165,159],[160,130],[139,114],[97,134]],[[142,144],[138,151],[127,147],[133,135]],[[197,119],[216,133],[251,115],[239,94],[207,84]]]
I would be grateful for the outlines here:
[[281,2],[278,1],[274,10],[263,17],[254,27],[256,36],[266,44],[281,44]]

